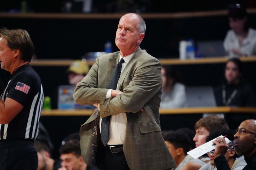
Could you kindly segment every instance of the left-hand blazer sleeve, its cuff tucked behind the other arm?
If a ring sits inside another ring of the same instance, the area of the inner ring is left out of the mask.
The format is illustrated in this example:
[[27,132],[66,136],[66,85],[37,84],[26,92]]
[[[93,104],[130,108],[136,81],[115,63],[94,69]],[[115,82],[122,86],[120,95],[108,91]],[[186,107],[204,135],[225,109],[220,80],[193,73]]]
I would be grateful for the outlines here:
[[96,58],[88,74],[76,85],[73,97],[78,104],[104,103],[108,89],[97,88],[99,58]]

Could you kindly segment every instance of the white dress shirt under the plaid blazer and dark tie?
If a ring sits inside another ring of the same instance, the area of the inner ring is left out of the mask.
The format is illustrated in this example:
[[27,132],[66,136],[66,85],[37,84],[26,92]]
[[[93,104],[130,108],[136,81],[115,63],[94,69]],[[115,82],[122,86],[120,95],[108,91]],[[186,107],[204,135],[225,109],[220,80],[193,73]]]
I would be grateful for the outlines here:
[[[122,75],[124,67],[128,64],[128,62],[132,58],[133,54],[134,53],[132,53],[129,56],[126,56],[126,57],[123,58],[124,62],[122,63],[122,70],[121,70],[120,76]],[[119,54],[119,61],[121,60],[121,58],[122,58],[122,56],[121,56],[121,54]],[[118,87],[118,83],[117,83],[117,87]],[[111,90],[112,89],[108,90],[107,95],[106,95],[106,99],[111,97]],[[102,121],[102,118],[100,117],[100,133],[101,133],[101,121]],[[127,118],[126,118],[125,113],[119,113],[117,115],[111,116],[110,124],[109,124],[108,145],[124,144],[126,123],[127,123]]]

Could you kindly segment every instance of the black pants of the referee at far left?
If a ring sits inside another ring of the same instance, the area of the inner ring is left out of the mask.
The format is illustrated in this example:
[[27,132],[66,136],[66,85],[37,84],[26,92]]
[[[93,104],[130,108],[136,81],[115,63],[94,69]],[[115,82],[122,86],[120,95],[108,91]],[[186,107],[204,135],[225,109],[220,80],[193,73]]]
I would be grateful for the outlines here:
[[0,142],[1,170],[37,170],[38,158],[34,141]]

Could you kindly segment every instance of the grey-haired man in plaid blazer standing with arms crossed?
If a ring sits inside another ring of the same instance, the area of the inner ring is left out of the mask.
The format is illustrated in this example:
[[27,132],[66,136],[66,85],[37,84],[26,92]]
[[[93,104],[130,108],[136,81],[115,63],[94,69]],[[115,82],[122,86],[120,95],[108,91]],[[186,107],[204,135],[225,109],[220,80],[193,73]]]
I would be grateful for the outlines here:
[[[161,64],[139,47],[145,30],[140,15],[122,16],[116,31],[120,51],[98,57],[76,85],[74,100],[98,107],[80,128],[81,151],[87,165],[120,170],[164,170],[176,166],[160,133]],[[108,89],[112,73],[122,59],[117,88]],[[109,141],[104,146],[101,122],[107,116],[111,116]]]

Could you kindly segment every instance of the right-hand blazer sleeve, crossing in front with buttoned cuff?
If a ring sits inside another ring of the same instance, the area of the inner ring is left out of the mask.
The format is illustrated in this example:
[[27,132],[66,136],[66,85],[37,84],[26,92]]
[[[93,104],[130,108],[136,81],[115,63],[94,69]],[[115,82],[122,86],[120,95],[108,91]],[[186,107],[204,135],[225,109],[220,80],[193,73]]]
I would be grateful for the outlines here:
[[162,88],[161,64],[156,58],[138,62],[130,83],[123,93],[106,99],[100,104],[100,116],[117,115],[121,112],[136,113]]

